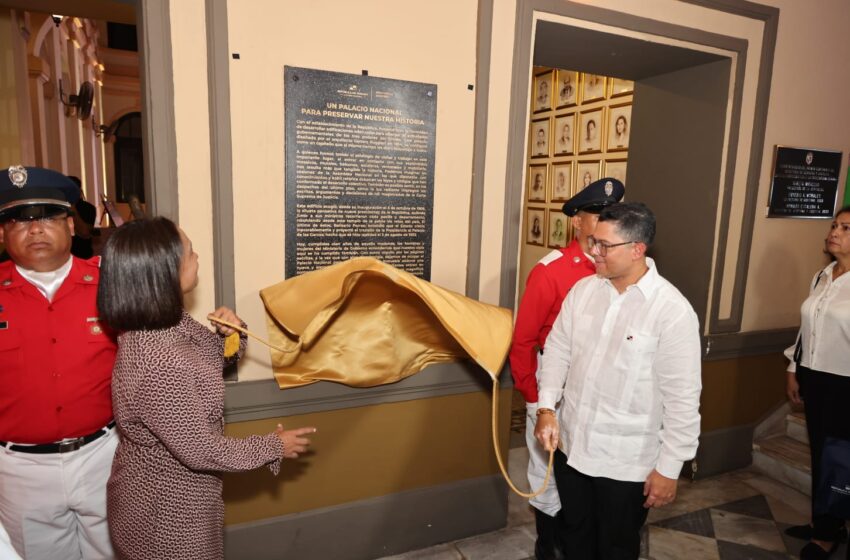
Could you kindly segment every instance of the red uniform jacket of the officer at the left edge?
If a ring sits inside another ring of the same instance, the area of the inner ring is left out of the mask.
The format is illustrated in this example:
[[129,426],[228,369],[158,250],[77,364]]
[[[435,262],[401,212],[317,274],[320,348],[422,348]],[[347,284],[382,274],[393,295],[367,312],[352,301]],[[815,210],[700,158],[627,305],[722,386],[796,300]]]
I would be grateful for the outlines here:
[[0,440],[49,443],[112,420],[115,341],[98,321],[98,257],[74,257],[52,302],[0,263]]

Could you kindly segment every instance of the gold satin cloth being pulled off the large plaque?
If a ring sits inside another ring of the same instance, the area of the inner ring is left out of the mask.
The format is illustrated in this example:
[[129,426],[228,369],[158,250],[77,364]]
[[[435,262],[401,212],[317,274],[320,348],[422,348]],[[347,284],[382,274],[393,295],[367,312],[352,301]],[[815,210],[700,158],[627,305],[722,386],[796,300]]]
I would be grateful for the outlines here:
[[260,297],[282,389],[316,381],[373,387],[467,358],[496,380],[511,344],[509,310],[371,257],[290,278]]

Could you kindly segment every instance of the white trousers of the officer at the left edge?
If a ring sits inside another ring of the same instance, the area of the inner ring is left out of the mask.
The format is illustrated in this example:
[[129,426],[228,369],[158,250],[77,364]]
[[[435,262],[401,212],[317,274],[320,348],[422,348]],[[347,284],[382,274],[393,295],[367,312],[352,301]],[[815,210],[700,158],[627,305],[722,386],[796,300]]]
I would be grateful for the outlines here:
[[0,521],[27,560],[113,558],[106,481],[115,429],[69,453],[0,448]]

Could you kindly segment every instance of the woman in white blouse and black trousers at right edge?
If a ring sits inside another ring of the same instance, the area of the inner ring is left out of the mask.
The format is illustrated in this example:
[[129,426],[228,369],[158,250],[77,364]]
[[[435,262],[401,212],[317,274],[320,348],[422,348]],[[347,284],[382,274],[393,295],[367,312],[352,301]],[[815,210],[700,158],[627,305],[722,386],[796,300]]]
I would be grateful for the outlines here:
[[812,455],[812,524],[790,527],[787,534],[811,542],[802,560],[828,558],[846,536],[844,519],[815,514],[821,454],[828,436],[850,439],[850,206],[835,215],[826,237],[833,262],[812,279],[800,317],[799,349],[788,348],[788,398],[805,402]]

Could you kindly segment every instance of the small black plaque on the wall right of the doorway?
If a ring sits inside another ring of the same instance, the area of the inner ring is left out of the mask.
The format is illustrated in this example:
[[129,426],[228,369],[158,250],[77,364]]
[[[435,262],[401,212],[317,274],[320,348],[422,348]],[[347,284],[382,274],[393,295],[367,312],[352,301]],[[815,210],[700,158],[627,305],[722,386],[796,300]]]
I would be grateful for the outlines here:
[[832,218],[841,152],[776,146],[768,218]]

